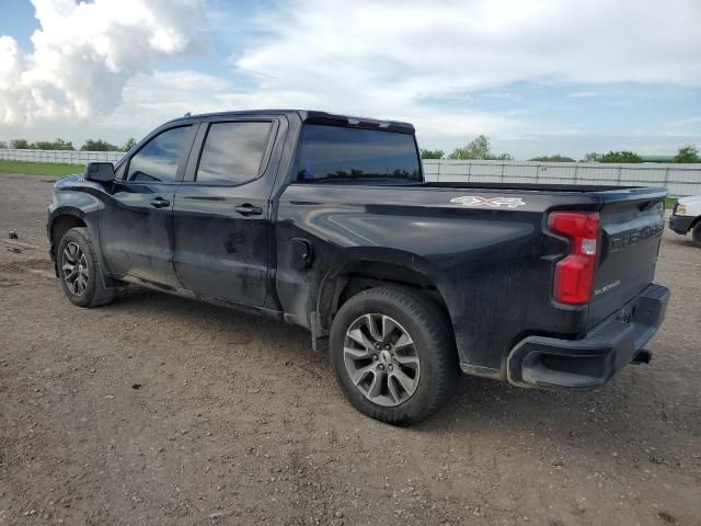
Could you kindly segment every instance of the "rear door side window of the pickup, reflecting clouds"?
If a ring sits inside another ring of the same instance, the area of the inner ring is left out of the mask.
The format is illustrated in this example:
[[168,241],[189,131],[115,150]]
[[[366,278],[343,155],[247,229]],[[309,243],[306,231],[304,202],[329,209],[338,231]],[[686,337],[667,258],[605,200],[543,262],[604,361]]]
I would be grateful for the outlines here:
[[271,135],[271,123],[214,123],[199,158],[198,183],[243,184],[256,179]]

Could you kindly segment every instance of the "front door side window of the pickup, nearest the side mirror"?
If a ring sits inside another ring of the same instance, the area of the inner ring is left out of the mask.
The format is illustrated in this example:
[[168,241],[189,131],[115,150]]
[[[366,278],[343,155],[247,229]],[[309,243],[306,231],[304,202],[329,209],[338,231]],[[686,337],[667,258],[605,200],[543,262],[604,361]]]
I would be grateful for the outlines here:
[[127,181],[139,183],[172,183],[177,174],[177,161],[191,126],[166,129],[157,135],[129,160]]

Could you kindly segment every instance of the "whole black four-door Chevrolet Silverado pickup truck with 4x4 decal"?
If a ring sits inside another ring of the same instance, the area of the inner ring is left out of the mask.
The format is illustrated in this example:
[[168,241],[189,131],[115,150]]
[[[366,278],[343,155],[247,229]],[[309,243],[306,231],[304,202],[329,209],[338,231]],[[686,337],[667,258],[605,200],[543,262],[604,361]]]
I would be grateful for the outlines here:
[[353,405],[407,424],[460,370],[586,389],[647,362],[665,196],[430,183],[406,123],[218,113],[58,181],[48,237],[73,304],[136,284],[304,327]]

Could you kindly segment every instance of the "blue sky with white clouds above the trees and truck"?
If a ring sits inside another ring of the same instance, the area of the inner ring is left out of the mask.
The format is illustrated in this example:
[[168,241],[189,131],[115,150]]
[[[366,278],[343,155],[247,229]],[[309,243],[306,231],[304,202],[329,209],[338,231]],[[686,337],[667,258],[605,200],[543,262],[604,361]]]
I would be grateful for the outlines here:
[[483,133],[518,159],[668,155],[701,147],[698,27],[697,0],[5,0],[0,140],[307,107],[410,121],[446,151]]

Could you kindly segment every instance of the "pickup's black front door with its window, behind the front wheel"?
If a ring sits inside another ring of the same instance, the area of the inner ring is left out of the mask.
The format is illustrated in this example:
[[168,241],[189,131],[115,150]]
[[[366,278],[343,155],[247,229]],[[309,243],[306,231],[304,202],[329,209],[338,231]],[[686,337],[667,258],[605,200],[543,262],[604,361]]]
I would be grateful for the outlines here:
[[156,135],[115,181],[100,220],[104,260],[113,274],[180,287],[173,270],[172,209],[194,132],[187,125]]

